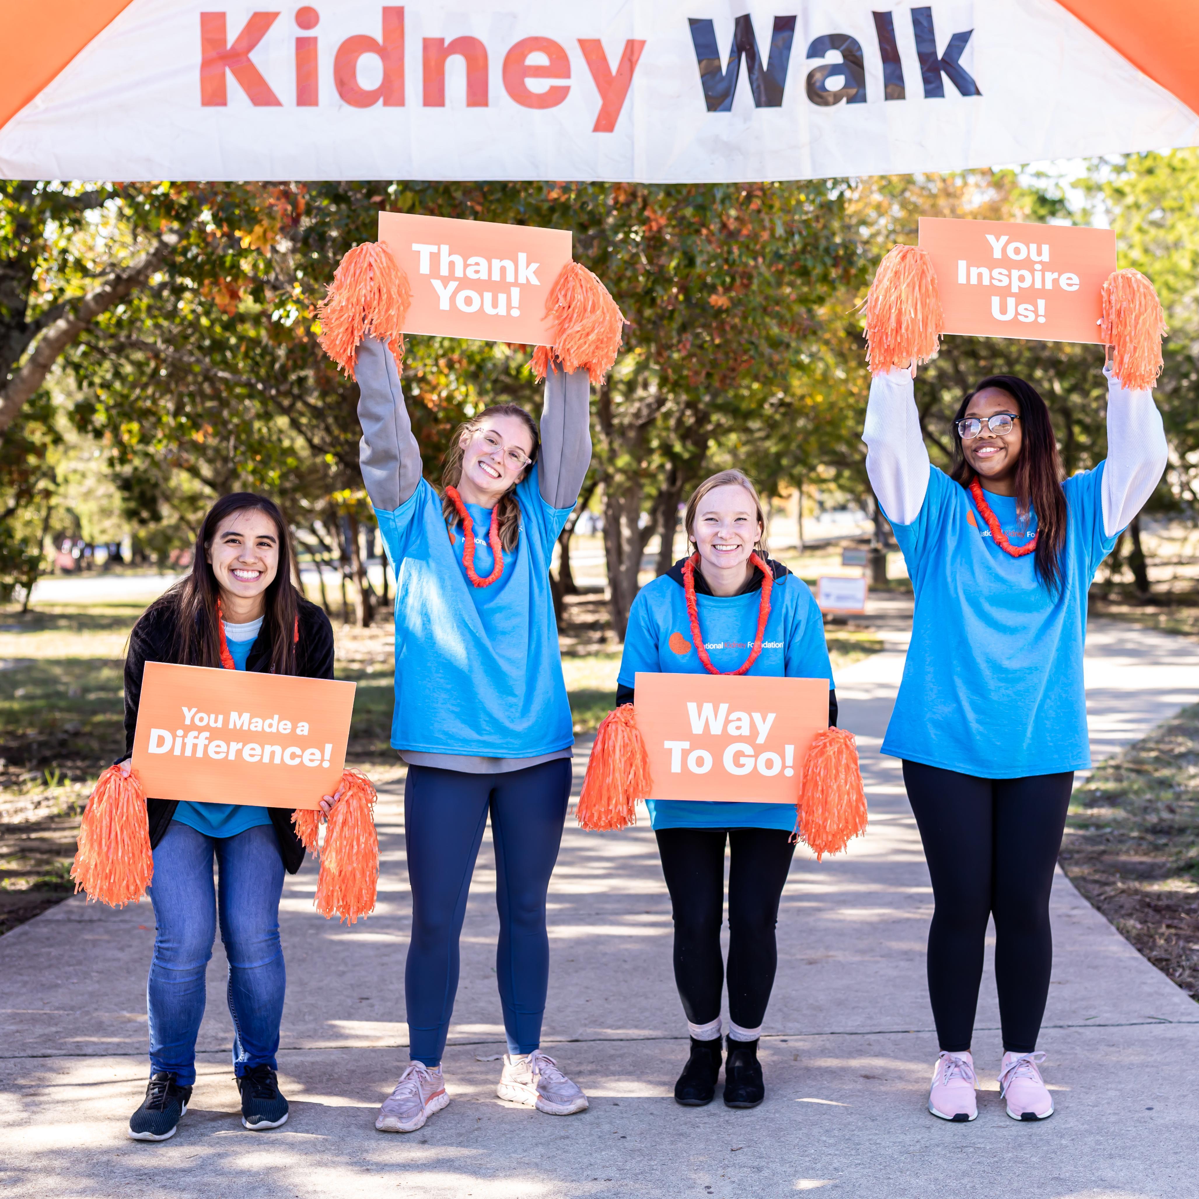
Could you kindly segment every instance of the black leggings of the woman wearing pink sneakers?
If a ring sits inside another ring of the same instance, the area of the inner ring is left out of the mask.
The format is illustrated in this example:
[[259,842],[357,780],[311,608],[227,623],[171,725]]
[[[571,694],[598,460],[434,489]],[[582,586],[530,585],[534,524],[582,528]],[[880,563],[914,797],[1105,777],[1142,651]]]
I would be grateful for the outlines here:
[[1032,1053],[1049,995],[1049,891],[1074,775],[976,778],[905,761],[903,781],[933,878],[928,995],[941,1049],[970,1048],[994,915],[1004,1049]]

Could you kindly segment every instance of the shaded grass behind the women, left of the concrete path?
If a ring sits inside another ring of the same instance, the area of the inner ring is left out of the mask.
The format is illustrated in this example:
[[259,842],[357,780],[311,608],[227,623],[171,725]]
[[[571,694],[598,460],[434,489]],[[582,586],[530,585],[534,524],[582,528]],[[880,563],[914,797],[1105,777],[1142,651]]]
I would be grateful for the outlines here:
[[[59,604],[0,613],[0,933],[58,903],[96,776],[125,748],[122,682],[144,603]],[[348,759],[375,782],[398,777],[391,748],[392,629],[343,628],[337,677],[357,683]],[[571,596],[561,638],[574,731],[594,733],[616,699],[620,645],[603,596]],[[833,669],[882,645],[868,629],[829,631]]]

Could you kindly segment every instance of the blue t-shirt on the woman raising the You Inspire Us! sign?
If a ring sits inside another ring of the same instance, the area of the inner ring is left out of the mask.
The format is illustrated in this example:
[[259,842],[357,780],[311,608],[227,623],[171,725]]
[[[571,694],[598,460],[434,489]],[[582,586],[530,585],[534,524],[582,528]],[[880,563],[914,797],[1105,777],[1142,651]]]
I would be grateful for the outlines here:
[[[970,493],[935,466],[916,519],[892,523],[916,594],[911,645],[882,753],[982,778],[1091,765],[1083,689],[1086,595],[1115,536],[1103,531],[1103,463],[1066,480],[1064,583],[992,538]],[[1016,500],[987,494],[1013,547]]]

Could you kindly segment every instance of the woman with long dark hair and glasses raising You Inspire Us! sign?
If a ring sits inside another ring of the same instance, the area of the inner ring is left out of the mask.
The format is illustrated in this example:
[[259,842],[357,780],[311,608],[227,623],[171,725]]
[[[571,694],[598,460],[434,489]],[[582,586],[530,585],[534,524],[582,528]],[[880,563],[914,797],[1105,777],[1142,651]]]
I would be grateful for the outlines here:
[[1107,367],[1108,459],[1064,482],[1044,400],[992,375],[958,408],[945,474],[929,464],[912,374],[874,376],[862,440],[916,595],[882,753],[903,759],[935,898],[928,989],[941,1053],[928,1108],[977,1115],[970,1046],[993,915],[1000,1091],[1010,1116],[1043,1120],[1049,891],[1074,771],[1091,764],[1086,594],[1157,486],[1165,436],[1151,393]]

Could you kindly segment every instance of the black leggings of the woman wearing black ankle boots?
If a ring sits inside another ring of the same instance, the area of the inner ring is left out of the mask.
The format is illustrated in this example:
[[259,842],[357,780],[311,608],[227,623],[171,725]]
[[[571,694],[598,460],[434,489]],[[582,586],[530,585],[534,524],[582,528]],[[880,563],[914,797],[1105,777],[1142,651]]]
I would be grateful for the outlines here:
[[692,1024],[721,1014],[724,842],[729,864],[729,1019],[758,1028],[775,986],[775,924],[795,846],[781,829],[661,829],[662,873],[675,926],[675,983]]

